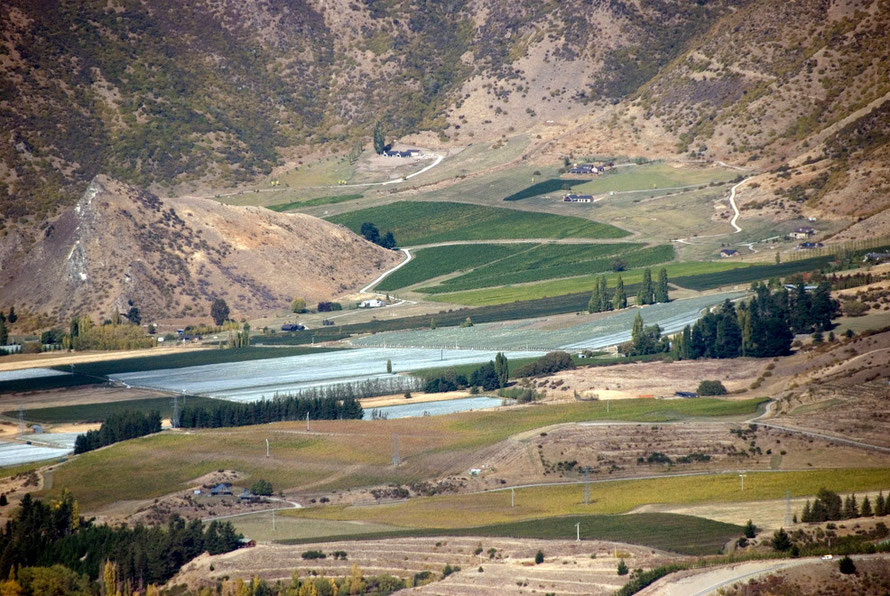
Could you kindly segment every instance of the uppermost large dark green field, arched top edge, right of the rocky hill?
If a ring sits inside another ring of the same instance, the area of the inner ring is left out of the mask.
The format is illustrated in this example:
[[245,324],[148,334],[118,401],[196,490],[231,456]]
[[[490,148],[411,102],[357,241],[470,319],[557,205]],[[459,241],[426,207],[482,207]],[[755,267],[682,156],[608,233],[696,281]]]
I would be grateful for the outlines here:
[[371,222],[392,232],[401,246],[451,240],[621,238],[628,233],[580,217],[532,213],[463,203],[399,201],[336,215],[330,221],[358,233]]

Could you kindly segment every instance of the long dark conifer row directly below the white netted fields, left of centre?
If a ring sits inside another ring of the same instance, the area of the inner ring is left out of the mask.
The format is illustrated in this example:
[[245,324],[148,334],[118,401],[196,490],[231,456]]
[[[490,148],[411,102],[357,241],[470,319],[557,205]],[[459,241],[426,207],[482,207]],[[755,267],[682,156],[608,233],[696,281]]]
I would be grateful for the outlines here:
[[304,420],[307,414],[312,420],[361,420],[364,411],[354,397],[337,399],[283,396],[252,403],[219,401],[209,406],[187,405],[179,414],[179,425],[183,428],[250,426]]

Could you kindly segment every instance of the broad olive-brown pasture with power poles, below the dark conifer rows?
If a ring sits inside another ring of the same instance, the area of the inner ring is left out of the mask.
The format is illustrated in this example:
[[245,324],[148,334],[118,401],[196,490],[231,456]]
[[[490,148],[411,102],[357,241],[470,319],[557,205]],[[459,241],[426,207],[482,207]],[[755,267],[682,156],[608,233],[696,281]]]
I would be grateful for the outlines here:
[[[54,473],[53,493],[69,488],[84,511],[151,499],[188,488],[208,472],[234,469],[269,480],[276,490],[339,490],[404,484],[445,472],[442,455],[472,458],[476,449],[519,432],[567,422],[662,422],[753,414],[763,400],[618,400],[509,407],[490,412],[378,421],[277,423],[237,429],[165,431],[71,458]],[[392,467],[392,436],[405,464]],[[272,457],[265,457],[265,439]],[[343,474],[349,470],[348,474]]]

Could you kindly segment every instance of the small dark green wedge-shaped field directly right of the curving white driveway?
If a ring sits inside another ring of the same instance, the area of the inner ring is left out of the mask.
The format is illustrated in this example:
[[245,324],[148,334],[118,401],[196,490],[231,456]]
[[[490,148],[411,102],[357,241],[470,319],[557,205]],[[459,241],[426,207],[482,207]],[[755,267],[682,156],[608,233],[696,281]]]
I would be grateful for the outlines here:
[[397,290],[440,275],[479,267],[534,246],[534,244],[458,244],[422,248],[412,255],[410,263],[388,275],[377,284],[376,289]]

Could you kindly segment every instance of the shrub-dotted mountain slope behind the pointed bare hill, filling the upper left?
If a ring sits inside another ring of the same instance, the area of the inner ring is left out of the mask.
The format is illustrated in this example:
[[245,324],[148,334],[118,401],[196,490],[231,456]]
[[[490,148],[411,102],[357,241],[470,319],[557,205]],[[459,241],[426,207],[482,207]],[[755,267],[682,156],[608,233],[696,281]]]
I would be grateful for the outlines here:
[[636,89],[737,3],[9,0],[0,215],[71,205],[99,173],[155,191],[235,183],[283,148],[367,142],[378,119],[389,136],[454,124],[447,140],[467,95],[486,136],[534,122],[506,117],[511,97],[583,111]]

